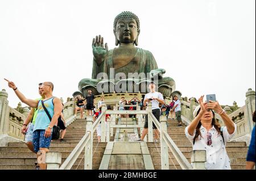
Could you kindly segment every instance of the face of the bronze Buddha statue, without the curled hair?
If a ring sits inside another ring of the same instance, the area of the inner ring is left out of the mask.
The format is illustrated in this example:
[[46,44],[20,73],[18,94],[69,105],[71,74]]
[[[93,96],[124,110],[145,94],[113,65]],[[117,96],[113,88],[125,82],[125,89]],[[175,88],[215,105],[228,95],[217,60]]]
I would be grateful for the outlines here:
[[137,22],[133,18],[120,18],[117,20],[115,36],[119,43],[134,43],[137,36]]

